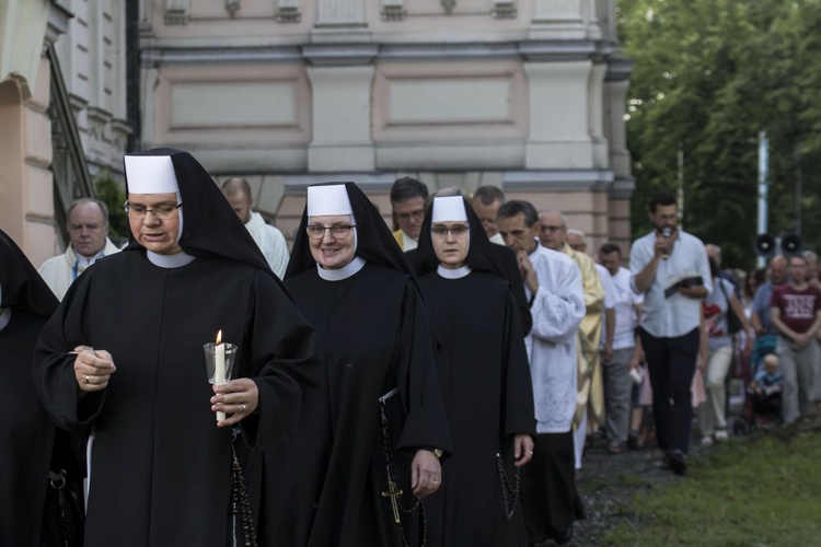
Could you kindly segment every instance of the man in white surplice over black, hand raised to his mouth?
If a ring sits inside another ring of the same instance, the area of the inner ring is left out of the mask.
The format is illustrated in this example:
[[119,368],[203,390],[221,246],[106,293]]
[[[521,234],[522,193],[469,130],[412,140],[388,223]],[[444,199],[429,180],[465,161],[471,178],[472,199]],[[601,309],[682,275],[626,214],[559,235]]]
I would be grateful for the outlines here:
[[524,338],[533,380],[536,439],[524,482],[524,519],[532,544],[573,537],[585,515],[576,490],[573,419],[576,412],[577,335],[585,317],[581,272],[563,253],[539,244],[539,212],[528,201],[499,208],[499,233],[513,249],[531,305]]

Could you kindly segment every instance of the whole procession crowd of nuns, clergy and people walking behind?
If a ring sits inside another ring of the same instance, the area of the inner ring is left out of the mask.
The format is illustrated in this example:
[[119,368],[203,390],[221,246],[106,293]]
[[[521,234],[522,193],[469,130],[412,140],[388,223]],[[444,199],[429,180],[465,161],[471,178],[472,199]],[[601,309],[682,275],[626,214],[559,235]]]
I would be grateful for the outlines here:
[[0,232],[0,545],[560,545],[586,445],[637,447],[645,408],[684,475],[738,363],[756,423],[821,401],[814,254],[722,270],[668,193],[627,257],[493,186],[401,178],[391,229],[327,183],[289,253],[243,178],[172,149],[125,174],[122,251],[94,199],[39,271]]

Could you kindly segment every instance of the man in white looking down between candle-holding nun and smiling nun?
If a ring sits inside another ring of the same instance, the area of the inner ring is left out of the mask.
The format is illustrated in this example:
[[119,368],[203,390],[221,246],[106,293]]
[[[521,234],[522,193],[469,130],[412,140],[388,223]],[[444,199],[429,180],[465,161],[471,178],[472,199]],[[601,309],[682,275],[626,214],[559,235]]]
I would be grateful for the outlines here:
[[263,252],[270,269],[279,279],[282,279],[290,258],[288,243],[285,241],[282,232],[265,222],[262,214],[251,210],[254,198],[251,197],[248,182],[240,177],[229,178],[222,183],[222,195],[226,196],[228,202],[231,203],[231,208],[245,224],[245,229],[251,232],[251,236],[259,251]]

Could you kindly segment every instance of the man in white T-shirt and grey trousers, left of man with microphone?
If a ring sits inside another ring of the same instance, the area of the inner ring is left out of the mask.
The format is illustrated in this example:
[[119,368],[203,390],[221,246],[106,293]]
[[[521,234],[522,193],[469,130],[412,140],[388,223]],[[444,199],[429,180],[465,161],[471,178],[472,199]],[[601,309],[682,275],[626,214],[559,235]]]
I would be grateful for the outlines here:
[[[615,327],[605,325],[602,331],[602,348],[605,336],[610,341],[610,358],[604,359],[604,396],[606,399],[606,430],[610,452],[618,453],[627,442],[633,380],[631,369],[638,366],[636,352],[636,325],[644,298],[631,289],[631,271],[622,267],[622,249],[614,243],[605,243],[599,249],[599,261],[605,269],[602,280],[610,278],[615,290]],[[603,353],[606,356],[606,353]]]

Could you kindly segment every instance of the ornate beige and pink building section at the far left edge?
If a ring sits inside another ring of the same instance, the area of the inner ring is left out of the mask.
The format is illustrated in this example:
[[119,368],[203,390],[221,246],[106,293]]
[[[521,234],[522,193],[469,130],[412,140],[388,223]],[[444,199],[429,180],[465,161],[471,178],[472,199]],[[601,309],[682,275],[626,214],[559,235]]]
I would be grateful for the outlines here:
[[[0,0],[0,229],[35,266],[65,251],[54,162],[65,152],[53,108],[60,79],[92,175],[122,172],[126,117],[125,2]],[[47,50],[54,48],[55,61]],[[84,190],[68,188],[68,198]]]

